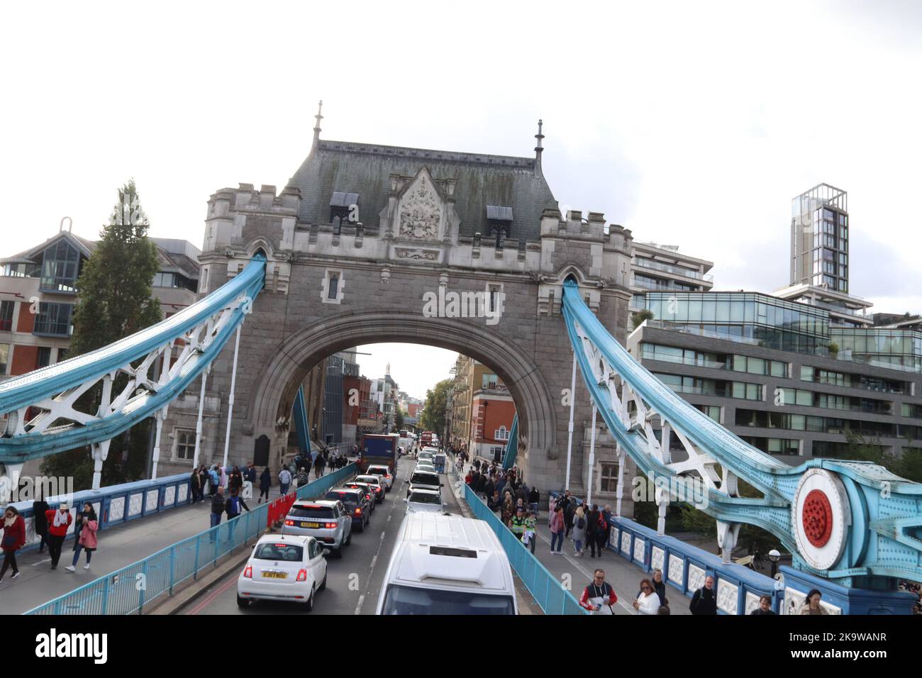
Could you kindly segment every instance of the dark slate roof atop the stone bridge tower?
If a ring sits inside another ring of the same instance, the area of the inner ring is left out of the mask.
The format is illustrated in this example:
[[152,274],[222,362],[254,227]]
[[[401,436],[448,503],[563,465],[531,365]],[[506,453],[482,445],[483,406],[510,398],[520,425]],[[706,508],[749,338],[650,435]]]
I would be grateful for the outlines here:
[[541,213],[557,208],[534,158],[457,153],[432,149],[360,144],[320,139],[289,185],[301,189],[301,221],[329,223],[334,193],[359,194],[359,220],[377,228],[387,207],[390,175],[415,176],[426,167],[433,179],[455,179],[455,210],[461,235],[489,232],[487,206],[512,208],[509,237],[538,240]]

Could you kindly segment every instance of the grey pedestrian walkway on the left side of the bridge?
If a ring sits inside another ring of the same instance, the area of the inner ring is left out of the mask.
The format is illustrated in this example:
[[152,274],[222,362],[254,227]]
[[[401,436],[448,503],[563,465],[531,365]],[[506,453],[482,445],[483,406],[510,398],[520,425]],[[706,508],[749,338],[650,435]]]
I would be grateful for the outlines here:
[[[258,493],[258,491],[257,491]],[[269,499],[278,497],[278,485],[269,491]],[[258,506],[259,495],[247,500],[247,506]],[[100,531],[100,546],[93,553],[89,570],[83,569],[87,557],[80,554],[76,572],[65,570],[74,557],[74,536],[67,536],[61,551],[61,560],[53,570],[51,556],[47,549],[39,553],[31,549],[17,556],[19,572],[13,579],[10,573],[0,583],[0,613],[21,614],[44,602],[77,589],[90,581],[106,575],[125,565],[136,563],[151,553],[170,546],[176,541],[191,537],[210,526],[211,501],[171,508],[169,511],[149,517],[129,520],[118,527]],[[222,520],[223,522],[223,520]]]

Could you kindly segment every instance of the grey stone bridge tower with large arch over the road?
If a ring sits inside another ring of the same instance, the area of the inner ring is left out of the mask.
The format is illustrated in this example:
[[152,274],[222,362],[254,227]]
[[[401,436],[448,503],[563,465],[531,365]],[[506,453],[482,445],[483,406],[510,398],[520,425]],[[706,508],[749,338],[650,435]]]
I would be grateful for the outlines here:
[[[266,289],[242,329],[231,463],[253,458],[266,435],[278,468],[276,422],[290,417],[298,384],[330,353],[404,341],[490,365],[519,413],[526,480],[560,487],[573,364],[561,284],[573,277],[623,341],[631,232],[606,229],[597,212],[561,215],[541,172],[540,128],[535,156],[514,158],[321,140],[320,117],[310,153],[280,192],[240,184],[208,201],[201,292],[257,252],[268,259]],[[231,344],[209,376],[224,394]],[[588,421],[585,387],[577,393],[576,421]],[[217,429],[220,458],[224,424]]]

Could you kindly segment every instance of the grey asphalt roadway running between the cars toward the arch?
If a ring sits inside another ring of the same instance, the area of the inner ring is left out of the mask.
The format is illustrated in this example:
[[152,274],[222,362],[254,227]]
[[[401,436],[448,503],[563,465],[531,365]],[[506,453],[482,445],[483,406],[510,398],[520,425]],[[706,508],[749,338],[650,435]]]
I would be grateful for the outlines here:
[[[326,589],[317,593],[313,614],[374,614],[397,531],[406,514],[403,501],[407,496],[405,482],[415,466],[416,461],[410,458],[404,458],[397,464],[394,487],[387,493],[384,502],[375,507],[365,531],[353,531],[352,543],[343,551],[342,558],[335,555],[327,557]],[[463,501],[459,502],[452,493],[447,476],[443,474],[442,478],[442,496],[446,510],[469,515],[467,507],[462,506]],[[302,613],[297,603],[284,601],[256,601],[245,609],[238,608],[237,578],[240,577],[240,572],[240,567],[234,568],[227,576],[219,579],[183,606],[178,614]],[[541,613],[517,577],[516,593],[520,613]]]

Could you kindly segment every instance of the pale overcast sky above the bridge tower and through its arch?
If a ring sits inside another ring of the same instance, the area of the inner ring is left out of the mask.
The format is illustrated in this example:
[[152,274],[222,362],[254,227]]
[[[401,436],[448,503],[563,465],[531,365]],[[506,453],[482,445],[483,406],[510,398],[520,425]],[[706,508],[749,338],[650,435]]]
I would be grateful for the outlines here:
[[[219,187],[287,183],[323,99],[325,138],[432,149],[529,156],[541,117],[561,208],[715,289],[786,285],[791,198],[839,186],[851,291],[922,311],[920,2],[137,5],[5,6],[0,256],[65,215],[96,237],[129,177],[200,245]],[[443,377],[393,352],[413,395]]]

